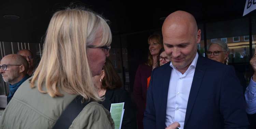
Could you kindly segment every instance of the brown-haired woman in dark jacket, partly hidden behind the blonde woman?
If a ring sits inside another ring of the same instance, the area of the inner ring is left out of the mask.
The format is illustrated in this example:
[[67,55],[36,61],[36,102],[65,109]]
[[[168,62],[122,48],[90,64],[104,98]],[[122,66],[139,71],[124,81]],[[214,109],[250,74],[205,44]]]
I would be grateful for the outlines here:
[[94,76],[95,85],[100,97],[104,97],[102,105],[110,111],[111,104],[125,103],[121,129],[136,129],[136,116],[131,105],[131,97],[122,89],[122,81],[116,73],[111,60],[106,58],[100,75]]

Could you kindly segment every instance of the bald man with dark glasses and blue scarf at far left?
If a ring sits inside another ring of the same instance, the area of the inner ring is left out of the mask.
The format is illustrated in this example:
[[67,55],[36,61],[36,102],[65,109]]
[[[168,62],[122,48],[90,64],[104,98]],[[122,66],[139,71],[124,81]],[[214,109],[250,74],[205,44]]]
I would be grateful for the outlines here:
[[2,58],[0,63],[0,73],[3,80],[9,83],[7,104],[10,102],[19,86],[30,77],[27,75],[27,71],[28,62],[23,56],[10,54]]

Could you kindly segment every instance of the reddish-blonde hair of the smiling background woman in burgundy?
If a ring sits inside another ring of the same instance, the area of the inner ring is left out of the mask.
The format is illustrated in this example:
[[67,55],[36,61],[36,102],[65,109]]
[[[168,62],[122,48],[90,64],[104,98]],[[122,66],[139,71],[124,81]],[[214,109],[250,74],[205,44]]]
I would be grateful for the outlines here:
[[[157,43],[160,44],[162,47],[163,47],[163,40],[162,40],[162,36],[159,35],[159,34],[153,34],[153,35],[150,35],[147,39],[147,42],[149,43],[149,41],[151,39],[156,39],[157,40]],[[160,54],[160,53],[159,53]],[[158,54],[158,55],[159,55]],[[148,50],[148,56],[147,56],[147,62],[145,63],[147,66],[150,66],[152,67],[153,65],[153,56],[150,54],[150,51]],[[158,65],[159,66],[159,65]]]

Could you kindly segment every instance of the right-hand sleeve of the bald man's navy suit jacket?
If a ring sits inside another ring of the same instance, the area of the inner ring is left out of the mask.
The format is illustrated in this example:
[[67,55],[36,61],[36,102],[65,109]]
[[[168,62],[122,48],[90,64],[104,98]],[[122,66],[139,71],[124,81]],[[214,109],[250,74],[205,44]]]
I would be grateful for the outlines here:
[[222,79],[220,111],[224,118],[224,129],[247,129],[249,123],[245,112],[243,89],[234,72],[228,66]]

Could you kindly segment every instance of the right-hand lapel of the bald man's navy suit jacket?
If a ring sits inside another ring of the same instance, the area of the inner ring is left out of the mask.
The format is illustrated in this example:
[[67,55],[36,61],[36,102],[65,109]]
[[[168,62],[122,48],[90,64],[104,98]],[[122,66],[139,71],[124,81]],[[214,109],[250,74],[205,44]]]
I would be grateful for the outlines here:
[[191,111],[193,109],[197,93],[199,91],[199,88],[201,86],[201,82],[203,79],[203,75],[205,72],[205,58],[202,56],[198,56],[197,64],[196,64],[196,69],[195,69],[195,74],[193,77],[189,97],[188,97],[188,103],[187,103],[187,111],[186,111],[186,116],[185,116],[185,122],[184,122],[184,128],[186,127],[186,123],[190,117]]

